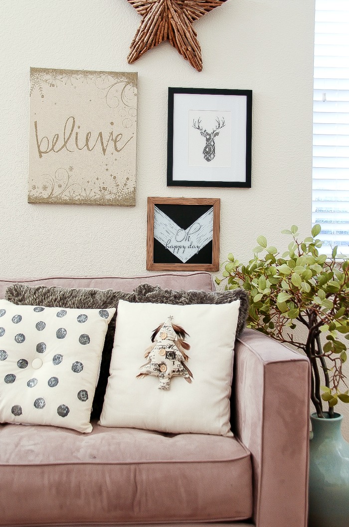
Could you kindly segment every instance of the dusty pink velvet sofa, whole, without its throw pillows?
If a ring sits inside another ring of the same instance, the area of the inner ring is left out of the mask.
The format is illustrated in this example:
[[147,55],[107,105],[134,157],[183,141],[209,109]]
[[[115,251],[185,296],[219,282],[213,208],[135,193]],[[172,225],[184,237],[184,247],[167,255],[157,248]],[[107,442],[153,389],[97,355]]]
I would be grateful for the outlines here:
[[[148,282],[214,290],[208,273],[169,272],[0,280],[1,298],[13,282],[125,291]],[[250,329],[238,339],[234,360],[234,437],[97,423],[90,434],[0,425],[0,525],[305,527],[309,363]]]

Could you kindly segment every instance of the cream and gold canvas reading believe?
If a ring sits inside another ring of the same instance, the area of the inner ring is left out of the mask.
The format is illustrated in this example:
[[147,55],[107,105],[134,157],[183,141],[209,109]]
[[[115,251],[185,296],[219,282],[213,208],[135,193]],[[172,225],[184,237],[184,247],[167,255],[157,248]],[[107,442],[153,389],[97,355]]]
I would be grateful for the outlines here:
[[30,68],[28,203],[135,206],[137,73]]

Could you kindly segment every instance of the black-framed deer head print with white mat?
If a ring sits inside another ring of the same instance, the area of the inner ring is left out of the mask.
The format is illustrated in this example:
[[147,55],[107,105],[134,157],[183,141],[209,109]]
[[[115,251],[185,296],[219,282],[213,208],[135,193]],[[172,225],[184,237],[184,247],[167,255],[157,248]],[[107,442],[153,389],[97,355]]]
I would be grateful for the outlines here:
[[167,185],[251,188],[252,91],[168,89]]

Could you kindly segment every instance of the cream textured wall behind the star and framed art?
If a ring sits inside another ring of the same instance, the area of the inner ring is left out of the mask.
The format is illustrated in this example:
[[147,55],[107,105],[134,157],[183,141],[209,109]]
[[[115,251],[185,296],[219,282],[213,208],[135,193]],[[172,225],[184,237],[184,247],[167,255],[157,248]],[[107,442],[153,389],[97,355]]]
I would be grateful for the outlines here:
[[[126,0],[2,0],[1,275],[145,274],[147,196],[219,197],[221,260],[250,258],[260,233],[309,233],[313,4],[229,0],[194,24],[198,73],[168,43],[127,63],[140,17]],[[30,66],[138,72],[135,208],[27,203]],[[252,189],[166,187],[168,86],[253,90]]]

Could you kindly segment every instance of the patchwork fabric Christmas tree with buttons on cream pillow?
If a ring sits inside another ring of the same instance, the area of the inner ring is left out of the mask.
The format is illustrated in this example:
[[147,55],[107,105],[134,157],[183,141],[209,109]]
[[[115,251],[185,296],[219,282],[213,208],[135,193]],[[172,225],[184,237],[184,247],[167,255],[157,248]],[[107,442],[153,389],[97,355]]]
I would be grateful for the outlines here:
[[[159,377],[159,389],[169,390],[170,380],[173,376],[181,376],[191,383],[193,375],[184,362],[189,357],[186,351],[190,345],[184,340],[187,331],[182,327],[172,324],[172,316],[161,323],[151,336],[152,345],[146,349],[145,357],[148,362],[140,367],[138,378],[146,375]],[[189,336],[189,335],[188,335]]]

